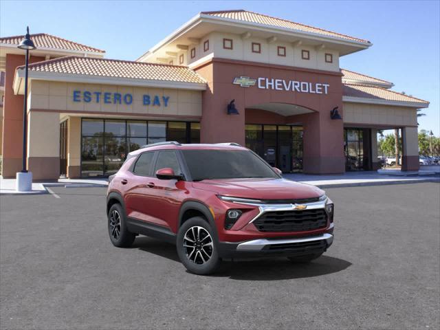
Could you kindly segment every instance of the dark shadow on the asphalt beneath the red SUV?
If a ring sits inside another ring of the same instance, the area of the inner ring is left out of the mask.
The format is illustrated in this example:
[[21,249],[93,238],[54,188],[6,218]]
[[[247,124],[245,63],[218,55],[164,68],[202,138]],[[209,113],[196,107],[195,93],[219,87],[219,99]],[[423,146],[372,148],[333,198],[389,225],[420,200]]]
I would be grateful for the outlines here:
[[[175,245],[150,237],[137,237],[131,248],[162,256],[180,263]],[[220,269],[210,276],[229,277],[239,281],[278,281],[309,278],[341,272],[352,263],[334,256],[320,256],[311,263],[292,263],[287,258],[266,258],[223,261]]]

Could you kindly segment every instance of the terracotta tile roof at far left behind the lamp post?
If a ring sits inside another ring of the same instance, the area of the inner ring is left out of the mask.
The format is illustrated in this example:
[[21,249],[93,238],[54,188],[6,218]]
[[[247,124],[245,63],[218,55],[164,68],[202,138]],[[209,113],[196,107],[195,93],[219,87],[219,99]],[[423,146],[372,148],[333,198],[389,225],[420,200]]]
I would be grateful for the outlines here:
[[[24,36],[5,36],[0,38],[0,44],[19,45]],[[95,52],[105,53],[104,50],[98,50],[98,48],[89,47],[74,41],[60,38],[58,36],[52,36],[51,34],[39,33],[31,34],[30,38],[34,41],[37,48],[52,48],[54,50],[74,50],[78,52]]]

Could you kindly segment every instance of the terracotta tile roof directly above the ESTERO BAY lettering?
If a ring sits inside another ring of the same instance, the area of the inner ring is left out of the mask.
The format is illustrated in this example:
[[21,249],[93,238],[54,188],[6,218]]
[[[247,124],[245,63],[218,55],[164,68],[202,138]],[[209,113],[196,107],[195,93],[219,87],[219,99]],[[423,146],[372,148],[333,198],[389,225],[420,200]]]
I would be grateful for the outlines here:
[[[23,67],[19,68],[23,69]],[[58,72],[60,74],[205,83],[205,80],[188,67],[109,60],[107,58],[65,56],[33,63],[29,65],[29,69],[31,72]]]

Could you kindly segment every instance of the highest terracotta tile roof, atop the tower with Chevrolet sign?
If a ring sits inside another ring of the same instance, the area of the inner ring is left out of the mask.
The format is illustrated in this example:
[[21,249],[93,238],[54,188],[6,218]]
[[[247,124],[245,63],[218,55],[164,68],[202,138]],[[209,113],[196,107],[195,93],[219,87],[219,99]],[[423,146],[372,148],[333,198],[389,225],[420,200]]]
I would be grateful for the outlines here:
[[350,41],[358,41],[360,43],[370,43],[370,41],[355,38],[353,36],[347,36],[346,34],[340,34],[320,28],[314,28],[313,26],[310,25],[287,21],[285,19],[278,19],[276,17],[270,17],[264,14],[259,14],[257,12],[249,12],[248,10],[224,10],[218,12],[201,12],[201,14],[206,14],[214,17],[223,17],[225,19],[233,19],[235,21],[245,21],[250,23],[270,25],[276,28],[287,28],[290,30],[296,30],[301,32],[322,34],[325,36],[332,36]]

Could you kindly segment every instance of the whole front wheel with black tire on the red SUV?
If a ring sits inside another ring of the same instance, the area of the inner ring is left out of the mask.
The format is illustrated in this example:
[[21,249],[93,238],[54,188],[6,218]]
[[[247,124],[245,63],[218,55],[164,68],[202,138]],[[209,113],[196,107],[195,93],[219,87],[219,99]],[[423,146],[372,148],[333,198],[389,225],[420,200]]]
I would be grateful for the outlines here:
[[221,263],[214,230],[201,217],[190,218],[179,228],[177,254],[186,269],[198,275],[212,274]]

